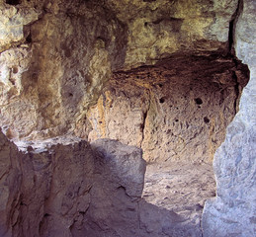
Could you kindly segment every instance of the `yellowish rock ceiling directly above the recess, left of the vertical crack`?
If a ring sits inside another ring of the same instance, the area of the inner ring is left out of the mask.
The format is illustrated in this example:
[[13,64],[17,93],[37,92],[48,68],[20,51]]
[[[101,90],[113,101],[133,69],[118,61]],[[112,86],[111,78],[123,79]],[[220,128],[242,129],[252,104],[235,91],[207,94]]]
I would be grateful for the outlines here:
[[125,66],[130,68],[155,63],[177,51],[223,50],[238,1],[109,2],[128,24]]

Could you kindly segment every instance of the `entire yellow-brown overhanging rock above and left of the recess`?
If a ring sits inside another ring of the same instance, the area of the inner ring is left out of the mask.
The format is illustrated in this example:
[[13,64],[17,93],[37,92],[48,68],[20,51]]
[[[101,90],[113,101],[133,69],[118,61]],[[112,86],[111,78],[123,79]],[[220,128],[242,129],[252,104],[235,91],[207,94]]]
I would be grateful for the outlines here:
[[177,52],[226,54],[237,3],[1,0],[0,125],[16,139],[85,136],[112,71]]

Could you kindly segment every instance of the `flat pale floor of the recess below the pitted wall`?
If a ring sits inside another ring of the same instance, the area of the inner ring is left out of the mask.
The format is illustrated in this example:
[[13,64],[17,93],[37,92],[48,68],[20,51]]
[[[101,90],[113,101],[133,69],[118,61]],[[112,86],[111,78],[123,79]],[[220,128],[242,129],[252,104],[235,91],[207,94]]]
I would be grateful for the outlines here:
[[200,222],[206,199],[215,196],[212,164],[149,164],[142,197]]

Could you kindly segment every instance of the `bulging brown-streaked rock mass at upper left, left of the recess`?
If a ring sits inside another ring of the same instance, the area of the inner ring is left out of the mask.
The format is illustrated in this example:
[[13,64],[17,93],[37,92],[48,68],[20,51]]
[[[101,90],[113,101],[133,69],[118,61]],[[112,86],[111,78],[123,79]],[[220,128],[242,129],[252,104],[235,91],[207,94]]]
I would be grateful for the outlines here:
[[10,17],[10,26],[5,24],[3,30],[7,34],[2,35],[7,43],[17,24],[23,30],[15,39],[23,37],[23,43],[4,45],[8,49],[0,55],[1,125],[11,138],[74,131],[83,111],[98,99],[115,63],[122,61],[126,43],[119,21],[101,6],[44,1],[37,6],[39,19],[32,22],[27,14],[30,9],[35,12],[32,4],[0,6],[3,11],[19,10],[15,17],[30,23],[23,26]]

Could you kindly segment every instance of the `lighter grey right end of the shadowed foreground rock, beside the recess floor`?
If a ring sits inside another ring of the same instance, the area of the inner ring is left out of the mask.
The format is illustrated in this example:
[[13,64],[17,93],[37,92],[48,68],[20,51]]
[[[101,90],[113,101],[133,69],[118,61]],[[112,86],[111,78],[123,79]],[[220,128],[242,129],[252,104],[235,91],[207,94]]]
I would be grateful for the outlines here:
[[91,145],[104,157],[103,162],[117,188],[125,189],[129,197],[141,197],[146,166],[142,150],[110,139],[99,139]]

